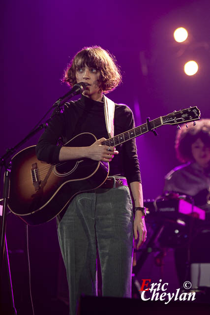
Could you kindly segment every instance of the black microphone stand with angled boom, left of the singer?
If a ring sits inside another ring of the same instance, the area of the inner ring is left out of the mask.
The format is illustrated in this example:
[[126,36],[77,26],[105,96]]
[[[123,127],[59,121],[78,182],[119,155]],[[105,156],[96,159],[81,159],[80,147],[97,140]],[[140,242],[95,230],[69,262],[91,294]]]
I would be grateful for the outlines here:
[[[82,93],[83,91],[81,91]],[[79,93],[77,93],[79,94]],[[74,95],[70,95],[72,97]],[[69,97],[69,98],[70,98]],[[54,116],[59,115],[63,111],[63,105],[64,102],[62,98],[58,99],[53,106],[48,110],[55,109],[54,115],[52,115],[44,124],[39,125],[38,127],[35,127],[30,131],[30,133],[16,146],[14,146],[11,149],[7,149],[6,153],[0,158],[0,167],[4,167],[4,180],[3,180],[3,196],[1,201],[3,200],[3,207],[2,207],[2,217],[1,217],[1,226],[0,226],[0,283],[2,284],[2,267],[3,267],[3,259],[4,259],[4,252],[6,252],[6,268],[7,268],[7,277],[8,277],[8,283],[9,283],[9,294],[10,294],[10,302],[12,305],[12,311],[13,314],[16,315],[16,309],[14,305],[14,298],[13,298],[13,290],[12,290],[12,281],[11,281],[11,274],[9,269],[9,258],[8,258],[8,252],[7,247],[5,247],[5,233],[6,233],[6,209],[9,199],[9,187],[10,187],[10,173],[11,173],[11,167],[12,167],[12,161],[11,156],[17,151],[18,148],[20,148],[24,143],[26,143],[32,136],[34,136],[39,130],[46,128],[48,126],[48,123],[54,118]],[[48,112],[45,114],[45,116],[48,114]],[[44,117],[45,117],[44,116]],[[0,285],[0,302],[2,302],[1,297],[1,290],[2,285]]]

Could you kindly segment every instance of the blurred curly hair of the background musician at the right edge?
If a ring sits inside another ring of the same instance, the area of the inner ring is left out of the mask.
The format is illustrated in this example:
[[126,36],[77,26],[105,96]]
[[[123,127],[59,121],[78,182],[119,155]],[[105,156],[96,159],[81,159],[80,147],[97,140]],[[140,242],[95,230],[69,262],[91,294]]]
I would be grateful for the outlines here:
[[177,131],[175,150],[181,162],[193,161],[191,145],[199,138],[210,147],[210,119],[201,119],[196,122],[196,126],[190,124],[188,128],[182,127]]

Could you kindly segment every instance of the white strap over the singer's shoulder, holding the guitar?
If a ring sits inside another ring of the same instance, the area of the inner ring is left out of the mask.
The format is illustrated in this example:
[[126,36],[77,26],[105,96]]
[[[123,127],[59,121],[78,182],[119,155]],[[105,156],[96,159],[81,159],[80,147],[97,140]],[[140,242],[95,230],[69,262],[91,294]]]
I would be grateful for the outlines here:
[[109,138],[114,137],[115,103],[104,95],[104,116]]

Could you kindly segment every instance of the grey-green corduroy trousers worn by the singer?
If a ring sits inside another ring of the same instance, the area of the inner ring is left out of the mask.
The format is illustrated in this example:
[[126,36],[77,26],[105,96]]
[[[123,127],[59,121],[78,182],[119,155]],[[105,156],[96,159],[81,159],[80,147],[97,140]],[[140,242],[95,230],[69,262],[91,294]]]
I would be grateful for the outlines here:
[[131,297],[133,213],[127,186],[75,196],[58,224],[58,236],[70,315],[76,314],[82,294],[97,295],[97,249],[103,296]]

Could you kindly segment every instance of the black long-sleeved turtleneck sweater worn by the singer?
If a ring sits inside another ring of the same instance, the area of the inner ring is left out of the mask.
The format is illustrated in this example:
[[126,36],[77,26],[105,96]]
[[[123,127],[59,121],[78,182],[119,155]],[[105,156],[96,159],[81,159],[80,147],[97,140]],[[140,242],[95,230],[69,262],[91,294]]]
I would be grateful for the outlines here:
[[[115,104],[114,125],[115,136],[135,127],[133,113],[129,107]],[[77,101],[66,103],[64,111],[54,116],[39,138],[36,146],[37,158],[51,164],[58,163],[60,153],[58,139],[61,138],[62,143],[66,143],[82,132],[93,133],[97,139],[102,137],[108,139],[104,103],[84,95]],[[118,145],[116,149],[119,155],[110,162],[109,175],[125,176],[129,183],[141,183],[135,139]]]

